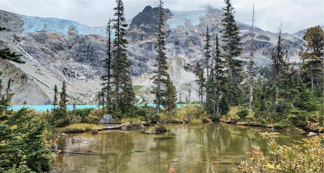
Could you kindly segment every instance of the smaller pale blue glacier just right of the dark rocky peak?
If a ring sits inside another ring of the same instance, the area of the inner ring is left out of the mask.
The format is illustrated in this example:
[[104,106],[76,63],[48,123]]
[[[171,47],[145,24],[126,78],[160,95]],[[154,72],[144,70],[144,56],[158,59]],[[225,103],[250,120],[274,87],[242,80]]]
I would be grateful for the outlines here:
[[171,29],[184,25],[185,21],[190,21],[193,26],[200,23],[200,16],[205,16],[208,13],[207,9],[199,9],[192,11],[171,11],[172,18],[167,20],[167,24]]

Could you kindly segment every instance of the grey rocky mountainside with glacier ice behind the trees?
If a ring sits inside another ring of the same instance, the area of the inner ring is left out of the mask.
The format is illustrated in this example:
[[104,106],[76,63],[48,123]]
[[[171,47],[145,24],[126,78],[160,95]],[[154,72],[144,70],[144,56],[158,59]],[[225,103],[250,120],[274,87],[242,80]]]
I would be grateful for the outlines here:
[[[189,88],[192,89],[196,87],[191,66],[194,61],[203,58],[206,28],[210,28],[213,37],[216,34],[221,35],[223,12],[218,9],[163,11],[169,73],[177,89],[182,90],[181,97],[185,98],[188,97],[188,86],[191,85]],[[156,56],[154,34],[157,19],[158,8],[147,6],[132,19],[127,33],[130,42],[127,53],[133,84],[142,85],[138,93],[146,101],[153,99],[148,91],[152,85],[150,77]],[[43,25],[51,20],[59,25]],[[251,26],[241,22],[237,24],[241,30],[241,46],[244,50],[237,58],[246,60]],[[24,101],[27,104],[49,103],[53,95],[53,85],[60,84],[63,80],[68,83],[70,103],[94,102],[95,93],[101,88],[101,61],[106,56],[106,38],[103,33],[105,27],[92,28],[69,20],[35,18],[5,11],[0,11],[0,26],[7,28],[0,34],[0,48],[9,47],[24,54],[26,64],[12,64],[27,74],[28,89],[35,91],[32,95],[46,98],[24,100],[24,95],[17,94],[13,99],[15,104],[22,104]],[[303,49],[303,40],[289,33],[284,33],[282,37],[291,60],[298,61],[298,51]],[[270,62],[270,52],[275,48],[276,34],[256,27],[255,40],[256,63],[266,65]],[[0,67],[4,70],[4,66]],[[22,85],[20,88],[24,87],[26,86]],[[191,91],[190,100],[197,100],[194,90]]]

